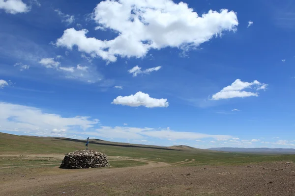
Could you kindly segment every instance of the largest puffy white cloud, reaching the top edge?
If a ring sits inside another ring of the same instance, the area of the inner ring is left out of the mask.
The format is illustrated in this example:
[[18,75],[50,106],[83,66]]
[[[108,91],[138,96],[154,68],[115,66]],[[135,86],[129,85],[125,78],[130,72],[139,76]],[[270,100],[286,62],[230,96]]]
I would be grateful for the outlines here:
[[[149,49],[197,47],[238,25],[234,11],[209,10],[199,16],[186,3],[172,0],[105,0],[94,9],[96,29],[118,33],[113,40],[87,37],[87,29],[66,29],[56,45],[98,56],[110,62],[143,57]],[[184,47],[185,46],[185,47]]]

